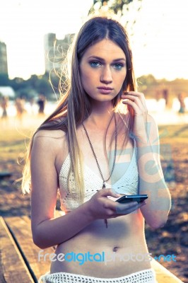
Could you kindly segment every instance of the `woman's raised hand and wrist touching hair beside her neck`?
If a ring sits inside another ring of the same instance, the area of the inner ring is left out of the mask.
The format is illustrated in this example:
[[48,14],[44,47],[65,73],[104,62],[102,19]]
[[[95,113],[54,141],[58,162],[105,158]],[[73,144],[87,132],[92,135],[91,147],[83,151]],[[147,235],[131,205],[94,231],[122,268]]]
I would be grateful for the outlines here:
[[146,99],[143,93],[136,91],[127,91],[122,95],[122,103],[128,105],[128,109],[132,108],[134,111],[134,127],[133,134],[136,141],[147,142],[148,135],[147,129],[147,117],[148,109],[146,107]]

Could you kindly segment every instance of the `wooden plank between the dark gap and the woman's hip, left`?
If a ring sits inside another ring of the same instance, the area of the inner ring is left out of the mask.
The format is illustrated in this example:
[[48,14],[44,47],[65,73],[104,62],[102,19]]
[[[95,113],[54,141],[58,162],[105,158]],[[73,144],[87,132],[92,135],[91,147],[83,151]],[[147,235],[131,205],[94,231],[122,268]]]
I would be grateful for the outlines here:
[[[33,243],[30,219],[28,216],[11,216],[5,217],[5,221],[11,230],[13,238],[16,239],[18,248],[25,262],[27,262],[30,273],[33,275],[35,282],[37,282],[40,276],[49,271],[51,262],[49,257],[46,260],[43,260],[43,258],[39,260],[38,255],[41,249]],[[54,253],[54,248],[46,248],[42,254],[46,253]]]

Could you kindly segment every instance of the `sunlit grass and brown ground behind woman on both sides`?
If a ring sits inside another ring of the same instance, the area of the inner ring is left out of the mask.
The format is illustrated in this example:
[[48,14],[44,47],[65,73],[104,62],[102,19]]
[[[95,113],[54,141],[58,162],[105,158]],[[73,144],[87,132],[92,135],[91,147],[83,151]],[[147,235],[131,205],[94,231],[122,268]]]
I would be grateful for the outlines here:
[[[4,127],[0,133],[0,172],[10,178],[0,179],[0,215],[30,215],[30,195],[23,196],[20,183],[25,143],[31,130]],[[188,126],[159,127],[160,154],[165,180],[172,195],[172,209],[167,224],[157,230],[146,225],[149,252],[177,256],[176,262],[160,262],[182,281],[188,282]],[[58,207],[58,202],[57,202]]]

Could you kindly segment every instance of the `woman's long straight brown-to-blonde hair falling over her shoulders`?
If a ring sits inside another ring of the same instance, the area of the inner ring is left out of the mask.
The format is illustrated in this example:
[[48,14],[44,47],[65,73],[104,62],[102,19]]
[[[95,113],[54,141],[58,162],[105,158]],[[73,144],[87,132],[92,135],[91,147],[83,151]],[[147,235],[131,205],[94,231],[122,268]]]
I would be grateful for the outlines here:
[[[134,91],[136,81],[134,77],[134,69],[132,62],[132,54],[129,45],[129,38],[126,30],[119,22],[107,17],[93,17],[83,24],[78,35],[75,37],[71,47],[71,64],[69,68],[69,86],[66,93],[62,93],[61,80],[59,81],[59,90],[61,92],[61,100],[57,109],[47,117],[47,120],[40,125],[36,132],[41,129],[61,129],[66,133],[69,153],[71,156],[71,168],[69,173],[74,173],[75,183],[78,188],[78,198],[83,201],[84,186],[82,173],[82,155],[78,146],[76,129],[86,120],[92,110],[90,98],[84,91],[79,70],[79,63],[88,47],[95,45],[103,39],[109,39],[117,44],[127,59],[127,75],[124,79],[122,89],[112,101],[114,108],[117,107],[122,93],[125,91]],[[130,112],[131,110],[129,110]],[[128,131],[131,130],[133,124],[133,113],[130,113]],[[129,133],[128,133],[129,134]],[[33,145],[33,139],[30,142],[30,149],[26,158],[25,168],[23,170],[23,192],[29,192],[32,189],[30,185],[30,153]],[[69,180],[69,178],[68,178]]]

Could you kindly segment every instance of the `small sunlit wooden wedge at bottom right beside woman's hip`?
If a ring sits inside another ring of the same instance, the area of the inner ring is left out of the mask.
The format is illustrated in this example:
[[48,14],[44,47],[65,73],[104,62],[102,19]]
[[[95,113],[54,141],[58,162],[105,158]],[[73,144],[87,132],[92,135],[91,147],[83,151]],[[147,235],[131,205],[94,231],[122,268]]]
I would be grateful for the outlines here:
[[182,281],[167,270],[163,265],[160,265],[156,260],[151,261],[151,267],[155,270],[158,283],[181,283]]

